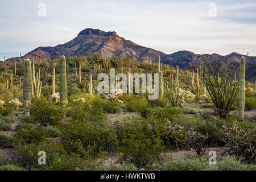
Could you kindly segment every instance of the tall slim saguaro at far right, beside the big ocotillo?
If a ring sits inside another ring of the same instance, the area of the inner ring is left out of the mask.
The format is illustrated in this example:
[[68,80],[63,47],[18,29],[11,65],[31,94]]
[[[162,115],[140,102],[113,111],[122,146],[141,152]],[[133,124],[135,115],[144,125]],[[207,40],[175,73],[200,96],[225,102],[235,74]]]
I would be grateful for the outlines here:
[[245,113],[245,57],[240,60],[239,118],[243,120]]

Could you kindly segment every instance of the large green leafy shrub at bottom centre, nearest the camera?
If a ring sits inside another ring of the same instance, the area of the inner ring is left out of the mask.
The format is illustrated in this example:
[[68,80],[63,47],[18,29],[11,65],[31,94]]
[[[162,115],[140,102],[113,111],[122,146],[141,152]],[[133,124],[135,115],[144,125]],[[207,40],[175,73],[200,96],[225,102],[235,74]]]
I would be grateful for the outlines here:
[[133,118],[129,122],[115,123],[115,130],[121,141],[119,151],[122,156],[119,162],[133,163],[137,167],[146,166],[161,159],[164,150],[163,140],[150,125],[153,119]]

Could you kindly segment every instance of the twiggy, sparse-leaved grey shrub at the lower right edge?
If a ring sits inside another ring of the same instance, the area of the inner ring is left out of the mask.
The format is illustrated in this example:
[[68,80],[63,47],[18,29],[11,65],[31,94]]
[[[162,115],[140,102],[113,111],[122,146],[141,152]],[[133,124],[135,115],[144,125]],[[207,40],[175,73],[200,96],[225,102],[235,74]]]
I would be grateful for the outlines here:
[[247,162],[256,162],[256,130],[242,129],[241,126],[234,123],[233,127],[223,126],[224,142],[229,154],[240,156]]

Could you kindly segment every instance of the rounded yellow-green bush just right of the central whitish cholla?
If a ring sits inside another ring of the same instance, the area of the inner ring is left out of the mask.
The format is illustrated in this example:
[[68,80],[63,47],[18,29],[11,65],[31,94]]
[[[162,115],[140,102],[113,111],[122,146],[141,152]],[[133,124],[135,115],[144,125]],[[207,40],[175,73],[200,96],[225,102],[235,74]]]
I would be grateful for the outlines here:
[[139,112],[145,107],[148,106],[148,101],[147,99],[142,95],[123,95],[122,97],[119,97],[120,100],[123,101],[123,104],[126,105],[126,109],[130,112]]

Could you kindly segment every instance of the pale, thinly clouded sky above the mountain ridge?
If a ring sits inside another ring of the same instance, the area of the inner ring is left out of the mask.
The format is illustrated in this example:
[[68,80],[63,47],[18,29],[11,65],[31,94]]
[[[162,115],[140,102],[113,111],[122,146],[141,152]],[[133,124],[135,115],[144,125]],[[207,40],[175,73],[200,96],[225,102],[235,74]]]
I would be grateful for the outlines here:
[[256,56],[256,0],[1,0],[0,60],[66,43],[85,28],[167,54]]

